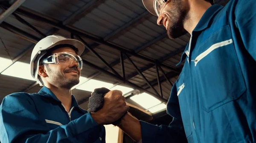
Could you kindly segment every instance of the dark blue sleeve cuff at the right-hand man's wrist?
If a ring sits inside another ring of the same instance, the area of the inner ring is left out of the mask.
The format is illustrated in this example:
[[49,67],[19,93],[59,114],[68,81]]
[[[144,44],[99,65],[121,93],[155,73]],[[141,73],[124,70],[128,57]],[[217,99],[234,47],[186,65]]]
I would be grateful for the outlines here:
[[[140,121],[142,142],[155,143],[159,127],[144,121]],[[139,142],[140,143],[140,142]]]

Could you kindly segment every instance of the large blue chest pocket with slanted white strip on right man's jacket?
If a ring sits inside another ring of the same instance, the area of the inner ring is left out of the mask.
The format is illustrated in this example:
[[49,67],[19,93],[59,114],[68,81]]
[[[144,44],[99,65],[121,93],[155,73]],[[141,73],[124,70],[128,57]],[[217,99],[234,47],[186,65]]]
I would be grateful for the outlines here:
[[193,53],[195,88],[200,90],[197,94],[203,110],[210,112],[244,93],[246,87],[229,25],[216,31]]

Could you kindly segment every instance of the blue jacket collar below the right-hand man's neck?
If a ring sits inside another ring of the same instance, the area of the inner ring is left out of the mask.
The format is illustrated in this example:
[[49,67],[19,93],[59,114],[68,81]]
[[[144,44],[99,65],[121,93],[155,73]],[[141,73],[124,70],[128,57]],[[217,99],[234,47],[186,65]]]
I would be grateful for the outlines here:
[[[212,18],[214,17],[214,15],[223,8],[223,6],[215,4],[211,7],[209,7],[205,13],[203,14],[203,16],[201,17],[201,19],[199,20],[198,24],[196,25],[195,29],[193,31],[202,31],[206,28],[208,28],[210,26],[210,20],[212,20]],[[181,55],[181,59],[180,62],[176,64],[176,66],[178,66],[184,59],[186,59],[186,50],[189,49],[189,43],[186,45],[186,48],[184,50],[184,52]]]

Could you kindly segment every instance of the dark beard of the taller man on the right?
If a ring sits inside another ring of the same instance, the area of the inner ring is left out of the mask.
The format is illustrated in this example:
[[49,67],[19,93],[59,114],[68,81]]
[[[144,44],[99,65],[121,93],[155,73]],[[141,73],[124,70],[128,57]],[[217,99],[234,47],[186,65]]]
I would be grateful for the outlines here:
[[167,34],[170,39],[175,39],[187,33],[184,29],[184,21],[188,19],[188,8],[182,8],[181,0],[173,0],[172,7],[169,9]]

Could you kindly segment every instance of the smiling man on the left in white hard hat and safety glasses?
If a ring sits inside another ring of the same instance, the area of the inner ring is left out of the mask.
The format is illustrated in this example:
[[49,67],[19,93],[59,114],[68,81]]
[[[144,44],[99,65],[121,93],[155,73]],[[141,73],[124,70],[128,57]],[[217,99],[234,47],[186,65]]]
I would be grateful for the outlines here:
[[56,35],[35,45],[31,75],[44,87],[38,93],[13,93],[3,99],[1,143],[105,143],[103,125],[121,118],[128,106],[117,101],[121,92],[111,91],[98,112],[79,107],[71,88],[79,83],[83,51],[82,42]]

